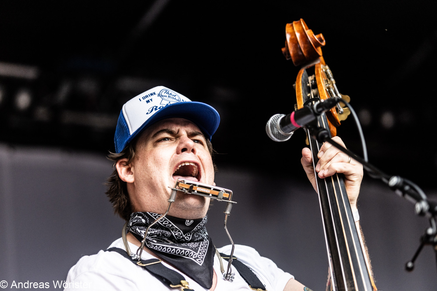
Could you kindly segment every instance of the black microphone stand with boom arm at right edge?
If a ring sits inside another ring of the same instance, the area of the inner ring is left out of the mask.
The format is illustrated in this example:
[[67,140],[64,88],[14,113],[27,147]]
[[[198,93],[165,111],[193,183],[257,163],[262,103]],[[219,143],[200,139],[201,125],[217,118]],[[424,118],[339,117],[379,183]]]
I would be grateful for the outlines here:
[[402,178],[400,176],[390,176],[385,174],[383,171],[376,168],[374,165],[364,161],[363,158],[357,156],[353,152],[349,151],[347,148],[341,146],[331,139],[331,135],[328,130],[323,127],[319,127],[316,122],[310,123],[305,126],[309,130],[309,134],[316,139],[318,142],[328,142],[334,147],[338,148],[343,153],[354,158],[356,161],[363,165],[364,170],[368,173],[371,178],[379,179],[383,181],[389,188],[395,191],[399,196],[413,202],[415,204],[415,212],[419,216],[426,216],[430,221],[430,227],[428,227],[420,238],[420,246],[414,253],[413,258],[408,261],[405,265],[407,271],[412,271],[414,269],[414,261],[419,256],[420,251],[423,249],[424,245],[431,245],[434,248],[434,253],[436,255],[437,264],[437,203],[428,201],[427,196],[419,186],[414,184],[412,181]]

